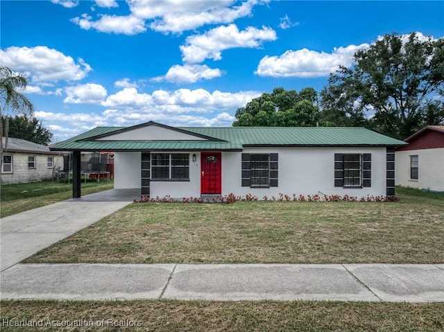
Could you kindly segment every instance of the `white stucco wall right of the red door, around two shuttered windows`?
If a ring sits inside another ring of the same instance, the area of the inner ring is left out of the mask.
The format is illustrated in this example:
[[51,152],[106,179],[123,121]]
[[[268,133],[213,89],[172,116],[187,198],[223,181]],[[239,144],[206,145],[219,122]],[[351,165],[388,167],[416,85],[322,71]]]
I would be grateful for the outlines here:
[[[386,195],[386,148],[245,148],[244,153],[278,153],[279,186],[250,188],[241,186],[241,153],[224,152],[222,157],[223,195]],[[371,187],[344,189],[334,186],[335,153],[371,153]]]

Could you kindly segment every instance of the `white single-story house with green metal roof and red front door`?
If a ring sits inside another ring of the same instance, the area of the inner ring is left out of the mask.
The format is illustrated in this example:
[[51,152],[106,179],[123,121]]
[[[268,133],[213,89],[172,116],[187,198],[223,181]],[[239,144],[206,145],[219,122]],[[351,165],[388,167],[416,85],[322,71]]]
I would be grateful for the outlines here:
[[95,128],[51,150],[73,151],[78,158],[80,151],[112,150],[114,188],[140,189],[151,198],[233,193],[262,200],[280,193],[393,196],[395,147],[404,145],[365,128],[173,128],[148,122]]

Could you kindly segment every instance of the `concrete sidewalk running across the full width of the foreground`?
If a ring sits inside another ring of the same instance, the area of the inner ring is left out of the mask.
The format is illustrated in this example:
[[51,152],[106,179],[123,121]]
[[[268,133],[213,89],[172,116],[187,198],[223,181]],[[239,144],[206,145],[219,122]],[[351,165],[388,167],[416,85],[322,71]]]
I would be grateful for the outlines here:
[[17,264],[2,299],[444,302],[444,265]]

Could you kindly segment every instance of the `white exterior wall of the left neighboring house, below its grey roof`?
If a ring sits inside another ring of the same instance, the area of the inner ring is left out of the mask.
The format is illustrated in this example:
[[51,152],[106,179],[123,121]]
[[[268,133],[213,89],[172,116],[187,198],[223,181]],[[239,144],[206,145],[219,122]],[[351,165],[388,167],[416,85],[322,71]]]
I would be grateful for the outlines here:
[[[63,169],[63,156],[45,155],[22,152],[3,152],[12,155],[12,173],[1,173],[3,184],[37,182],[50,179],[53,176],[53,167]],[[28,156],[35,157],[35,168],[28,168]],[[48,157],[53,157],[53,167],[48,167]],[[60,168],[59,168],[60,167]]]

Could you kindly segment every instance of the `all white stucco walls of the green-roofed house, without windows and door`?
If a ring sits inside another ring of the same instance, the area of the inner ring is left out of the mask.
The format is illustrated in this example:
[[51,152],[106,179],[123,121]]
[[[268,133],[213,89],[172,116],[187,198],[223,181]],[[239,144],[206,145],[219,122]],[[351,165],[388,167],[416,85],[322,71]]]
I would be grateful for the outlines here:
[[[244,153],[278,153],[279,186],[271,188],[250,188],[241,186],[241,152],[222,152],[222,195],[386,195],[386,148],[245,148]],[[182,152],[183,153],[183,152]],[[371,153],[371,187],[344,189],[334,187],[335,153]],[[151,181],[151,198],[200,197],[200,153],[190,152],[189,181]],[[192,155],[196,154],[196,161]],[[116,152],[114,154],[114,188],[140,188],[141,153]]]

